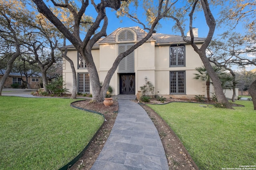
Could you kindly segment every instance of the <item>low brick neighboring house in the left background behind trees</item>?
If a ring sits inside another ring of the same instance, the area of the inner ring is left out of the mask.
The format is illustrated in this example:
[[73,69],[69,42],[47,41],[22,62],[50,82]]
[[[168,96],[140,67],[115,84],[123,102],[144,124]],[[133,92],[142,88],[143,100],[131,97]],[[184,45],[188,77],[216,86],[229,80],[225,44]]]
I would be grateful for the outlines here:
[[[5,70],[0,69],[0,80],[4,76],[4,73],[5,73]],[[40,75],[41,73],[39,75],[33,74],[32,76],[28,77],[30,88],[32,89],[40,88],[40,81],[41,81]],[[22,79],[24,81],[26,80],[26,76],[24,74],[22,74]],[[12,88],[11,85],[16,83],[20,84],[20,88],[27,88],[26,83],[22,82],[22,79],[21,79],[20,73],[10,72],[6,82],[4,83],[4,88]]]

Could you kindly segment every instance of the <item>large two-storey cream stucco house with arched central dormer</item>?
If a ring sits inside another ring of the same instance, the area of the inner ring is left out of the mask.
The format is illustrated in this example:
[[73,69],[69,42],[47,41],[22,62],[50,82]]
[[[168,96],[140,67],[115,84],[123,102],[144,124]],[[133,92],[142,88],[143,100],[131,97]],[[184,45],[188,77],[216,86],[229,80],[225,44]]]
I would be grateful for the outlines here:
[[[140,27],[118,28],[93,46],[92,56],[101,82],[116,57],[145,35],[146,32]],[[197,29],[194,29],[194,35],[198,35]],[[204,40],[194,38],[199,47]],[[78,92],[92,93],[84,60],[72,45],[68,46],[67,55],[76,66]],[[193,79],[195,68],[199,66],[203,66],[199,55],[181,36],[154,33],[148,41],[120,62],[110,86],[113,94],[136,94],[140,86],[150,81],[154,84],[156,95],[194,98],[195,95],[206,95],[205,82]],[[65,59],[63,78],[66,88],[71,92],[72,71]]]

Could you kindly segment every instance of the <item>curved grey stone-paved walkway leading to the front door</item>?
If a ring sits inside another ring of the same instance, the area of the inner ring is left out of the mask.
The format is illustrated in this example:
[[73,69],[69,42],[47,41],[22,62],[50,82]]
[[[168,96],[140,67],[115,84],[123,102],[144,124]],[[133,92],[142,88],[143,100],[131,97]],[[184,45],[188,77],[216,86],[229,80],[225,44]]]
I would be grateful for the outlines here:
[[146,111],[118,99],[114,127],[91,170],[168,170],[158,131]]

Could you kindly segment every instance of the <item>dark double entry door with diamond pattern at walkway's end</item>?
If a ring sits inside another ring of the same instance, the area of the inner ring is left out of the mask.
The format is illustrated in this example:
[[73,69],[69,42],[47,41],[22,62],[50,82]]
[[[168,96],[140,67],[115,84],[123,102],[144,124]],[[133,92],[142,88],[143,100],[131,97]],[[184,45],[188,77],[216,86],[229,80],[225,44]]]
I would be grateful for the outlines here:
[[120,94],[135,94],[135,74],[120,74]]

